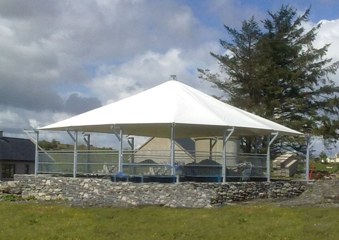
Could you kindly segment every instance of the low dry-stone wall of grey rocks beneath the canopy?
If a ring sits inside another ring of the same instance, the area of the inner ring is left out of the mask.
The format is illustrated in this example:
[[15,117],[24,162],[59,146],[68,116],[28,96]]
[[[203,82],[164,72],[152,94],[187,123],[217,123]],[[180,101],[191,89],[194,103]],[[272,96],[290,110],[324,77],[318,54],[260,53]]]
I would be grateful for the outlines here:
[[15,175],[0,191],[40,200],[68,199],[83,205],[212,207],[253,198],[301,194],[304,181],[227,183],[132,183],[107,179]]

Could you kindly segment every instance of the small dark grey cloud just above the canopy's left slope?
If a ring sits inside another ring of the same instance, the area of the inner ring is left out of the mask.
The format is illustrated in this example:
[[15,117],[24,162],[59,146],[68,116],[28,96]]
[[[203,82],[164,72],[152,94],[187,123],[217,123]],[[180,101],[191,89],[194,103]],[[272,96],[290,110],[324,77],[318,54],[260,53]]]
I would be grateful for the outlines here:
[[101,101],[96,97],[82,97],[73,93],[66,100],[65,111],[71,114],[80,114],[102,106]]

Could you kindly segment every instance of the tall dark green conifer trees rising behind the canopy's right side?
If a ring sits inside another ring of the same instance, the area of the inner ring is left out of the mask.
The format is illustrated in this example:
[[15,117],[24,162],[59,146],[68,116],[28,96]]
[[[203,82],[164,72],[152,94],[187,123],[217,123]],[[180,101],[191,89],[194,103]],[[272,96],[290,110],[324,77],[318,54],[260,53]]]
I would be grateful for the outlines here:
[[[315,48],[313,41],[321,24],[309,31],[310,8],[302,15],[289,5],[268,12],[261,29],[254,17],[238,31],[224,25],[231,41],[220,40],[225,55],[211,53],[221,71],[198,69],[200,78],[221,89],[226,102],[292,129],[323,135],[334,143],[339,134],[339,86],[329,78],[339,61],[326,58],[329,44]],[[243,138],[243,150],[264,148],[263,137]],[[304,138],[280,137],[273,151],[305,151]]]

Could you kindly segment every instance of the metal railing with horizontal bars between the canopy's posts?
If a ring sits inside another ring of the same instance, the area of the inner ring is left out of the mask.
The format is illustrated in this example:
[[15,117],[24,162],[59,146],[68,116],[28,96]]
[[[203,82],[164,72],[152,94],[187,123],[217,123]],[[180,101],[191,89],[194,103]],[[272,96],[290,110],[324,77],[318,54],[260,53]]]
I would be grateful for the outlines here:
[[[75,157],[76,154],[76,157]],[[222,176],[222,152],[175,150],[123,150],[122,172],[129,175]],[[38,174],[118,174],[118,150],[39,151]],[[226,153],[226,176],[241,177],[251,167],[251,177],[266,176],[266,154]]]

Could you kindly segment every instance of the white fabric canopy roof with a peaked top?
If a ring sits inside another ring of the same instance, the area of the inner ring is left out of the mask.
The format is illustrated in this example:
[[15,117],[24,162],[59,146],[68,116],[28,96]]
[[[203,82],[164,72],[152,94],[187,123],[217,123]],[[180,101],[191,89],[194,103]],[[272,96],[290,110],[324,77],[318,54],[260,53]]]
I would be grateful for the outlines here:
[[116,126],[124,134],[170,138],[172,123],[177,138],[222,136],[230,127],[235,129],[233,136],[303,135],[175,80],[38,130],[112,133]]

